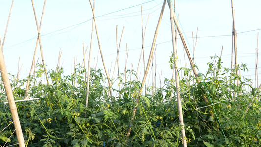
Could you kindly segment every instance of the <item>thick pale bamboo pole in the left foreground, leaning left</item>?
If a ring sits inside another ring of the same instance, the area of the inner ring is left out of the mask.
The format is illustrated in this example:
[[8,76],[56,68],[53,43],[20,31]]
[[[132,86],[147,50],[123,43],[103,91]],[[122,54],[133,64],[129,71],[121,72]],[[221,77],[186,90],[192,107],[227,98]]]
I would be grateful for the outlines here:
[[12,88],[11,88],[10,81],[8,78],[1,44],[0,44],[0,71],[1,71],[1,75],[2,75],[4,89],[5,89],[6,96],[7,96],[8,103],[9,103],[10,111],[12,114],[12,119],[13,119],[13,123],[15,126],[15,132],[16,132],[18,143],[19,143],[19,147],[25,147],[24,136],[23,136],[21,125],[20,125]]

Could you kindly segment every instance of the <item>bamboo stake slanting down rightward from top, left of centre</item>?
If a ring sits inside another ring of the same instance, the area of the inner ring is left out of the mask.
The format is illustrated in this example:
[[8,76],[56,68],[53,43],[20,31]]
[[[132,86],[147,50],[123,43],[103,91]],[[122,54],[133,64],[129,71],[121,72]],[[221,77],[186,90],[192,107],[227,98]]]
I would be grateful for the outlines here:
[[[92,5],[91,0],[89,0],[89,2],[90,2],[91,8],[92,8],[92,12],[93,12],[93,20],[94,20],[94,24],[95,24],[97,40],[98,40],[99,49],[100,49],[100,56],[101,56],[101,60],[102,60],[102,63],[103,63],[103,67],[104,67],[104,70],[105,70],[105,73],[106,73],[106,76],[107,76],[107,79],[108,79],[108,84],[109,84],[109,88],[110,88],[110,94],[111,94],[111,96],[112,96],[112,87],[111,87],[110,77],[109,77],[109,74],[108,74],[108,72],[107,72],[107,69],[106,69],[106,66],[105,66],[105,61],[104,61],[104,59],[103,59],[103,55],[102,55],[102,51],[101,51],[100,40],[99,40],[99,35],[98,35],[98,29],[97,29],[97,25],[96,25],[95,16],[94,16],[94,9],[93,9],[93,5]],[[112,98],[111,98],[111,99],[112,99]],[[113,101],[113,99],[112,99],[112,101]]]

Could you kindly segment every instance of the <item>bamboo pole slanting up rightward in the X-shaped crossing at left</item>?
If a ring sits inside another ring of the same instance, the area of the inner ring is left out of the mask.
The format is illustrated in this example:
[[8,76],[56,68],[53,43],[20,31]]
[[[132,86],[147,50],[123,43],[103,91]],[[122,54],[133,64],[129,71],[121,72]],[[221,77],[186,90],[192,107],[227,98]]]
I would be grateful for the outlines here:
[[[43,12],[42,12],[40,26],[39,26],[39,31],[41,30],[41,26],[42,26],[42,20],[43,20],[44,11],[45,11],[45,5],[46,5],[46,0],[44,2]],[[27,99],[27,95],[28,95],[29,83],[30,83],[31,73],[32,73],[32,70],[33,70],[33,67],[34,67],[34,63],[35,63],[35,56],[36,56],[36,51],[37,51],[37,47],[38,47],[38,41],[39,41],[39,38],[37,37],[35,50],[34,50],[34,55],[33,55],[33,61],[32,61],[31,69],[30,69],[29,76],[28,76],[28,79],[27,79],[26,88],[25,88],[24,99]]]

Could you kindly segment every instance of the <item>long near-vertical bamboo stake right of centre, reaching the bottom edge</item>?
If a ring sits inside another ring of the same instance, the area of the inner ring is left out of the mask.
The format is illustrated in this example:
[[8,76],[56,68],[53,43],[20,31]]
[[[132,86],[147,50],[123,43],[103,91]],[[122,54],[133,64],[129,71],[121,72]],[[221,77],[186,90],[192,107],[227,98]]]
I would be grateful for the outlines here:
[[168,0],[168,6],[170,9],[170,20],[171,20],[171,31],[172,31],[172,44],[173,44],[173,55],[174,55],[174,68],[175,69],[175,79],[176,79],[176,91],[177,91],[177,102],[178,102],[178,112],[179,112],[179,121],[181,124],[181,134],[182,134],[182,140],[183,140],[183,147],[187,147],[187,142],[186,142],[186,134],[185,134],[185,127],[184,127],[184,121],[183,121],[183,112],[182,112],[182,105],[181,105],[181,98],[180,98],[180,85],[179,85],[179,75],[178,75],[178,64],[177,62],[177,46],[175,42],[175,28],[174,28],[174,12],[173,12],[173,7],[172,7],[172,2],[171,0]]

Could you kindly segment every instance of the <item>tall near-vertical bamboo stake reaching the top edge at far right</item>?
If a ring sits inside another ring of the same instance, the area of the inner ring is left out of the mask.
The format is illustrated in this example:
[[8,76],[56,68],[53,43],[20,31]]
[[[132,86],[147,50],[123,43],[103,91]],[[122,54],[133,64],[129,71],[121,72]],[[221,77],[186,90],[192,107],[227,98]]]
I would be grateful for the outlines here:
[[[236,69],[236,74],[238,74],[238,69],[237,69],[237,36],[236,36],[236,29],[235,29],[235,17],[234,17],[234,9],[233,9],[233,0],[231,0],[231,8],[232,8],[232,19],[233,19],[233,39],[234,39],[234,53],[235,53],[235,69]],[[237,78],[237,86],[239,85],[239,79]]]

